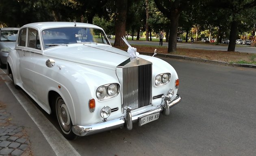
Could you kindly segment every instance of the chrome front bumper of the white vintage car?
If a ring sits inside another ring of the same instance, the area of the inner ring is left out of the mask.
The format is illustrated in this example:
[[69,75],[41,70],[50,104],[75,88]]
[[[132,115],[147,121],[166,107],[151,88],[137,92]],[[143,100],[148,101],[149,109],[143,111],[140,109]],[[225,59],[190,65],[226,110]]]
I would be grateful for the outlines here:
[[126,115],[121,116],[117,119],[111,119],[106,121],[100,121],[98,123],[94,123],[87,126],[72,126],[72,131],[78,136],[91,135],[95,133],[104,132],[107,130],[112,130],[115,128],[122,128],[126,126],[128,130],[132,129],[132,123],[138,121],[139,117],[143,117],[145,115],[150,115],[152,113],[162,112],[164,115],[169,115],[169,108],[175,106],[181,101],[181,96],[176,95],[174,99],[169,99],[167,96],[162,97],[162,103],[153,109],[145,111],[140,114],[136,114],[132,116],[130,109],[127,108]]

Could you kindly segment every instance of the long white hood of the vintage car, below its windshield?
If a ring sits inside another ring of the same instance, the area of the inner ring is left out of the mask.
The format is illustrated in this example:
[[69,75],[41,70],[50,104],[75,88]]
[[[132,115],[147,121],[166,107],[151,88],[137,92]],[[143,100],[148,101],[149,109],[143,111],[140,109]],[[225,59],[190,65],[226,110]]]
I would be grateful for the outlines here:
[[113,70],[130,58],[128,52],[110,45],[82,43],[55,46],[44,50],[43,55]]

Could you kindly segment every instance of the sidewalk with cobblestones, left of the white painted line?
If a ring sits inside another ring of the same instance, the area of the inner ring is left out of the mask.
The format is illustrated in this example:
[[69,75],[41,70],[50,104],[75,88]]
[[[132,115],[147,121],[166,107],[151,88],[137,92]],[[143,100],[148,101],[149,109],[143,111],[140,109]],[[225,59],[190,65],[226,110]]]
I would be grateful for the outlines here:
[[0,156],[55,156],[0,74]]

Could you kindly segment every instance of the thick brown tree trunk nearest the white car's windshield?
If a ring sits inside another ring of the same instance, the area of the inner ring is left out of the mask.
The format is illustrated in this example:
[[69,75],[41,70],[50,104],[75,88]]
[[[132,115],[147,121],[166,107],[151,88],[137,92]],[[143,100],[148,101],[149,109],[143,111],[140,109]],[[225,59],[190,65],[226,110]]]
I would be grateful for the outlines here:
[[127,0],[117,0],[117,15],[115,18],[115,46],[125,46],[121,37],[125,36]]

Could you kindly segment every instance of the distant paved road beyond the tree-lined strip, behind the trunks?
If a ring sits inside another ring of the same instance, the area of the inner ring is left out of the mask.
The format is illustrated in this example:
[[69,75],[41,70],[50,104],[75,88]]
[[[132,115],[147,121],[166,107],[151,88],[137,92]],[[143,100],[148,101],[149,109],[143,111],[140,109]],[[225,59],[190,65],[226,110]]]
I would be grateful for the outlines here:
[[[114,43],[114,39],[110,39],[111,43]],[[133,45],[156,45],[159,46],[158,42],[152,42],[152,41],[131,41],[128,40],[128,43]],[[163,46],[168,46],[168,43],[163,43]],[[197,44],[197,43],[177,43],[177,47],[180,48],[190,48],[190,49],[204,49],[204,50],[220,50],[220,51],[227,51],[228,45],[204,45]],[[136,48],[136,47],[135,47]],[[236,45],[235,48],[236,52],[246,52],[246,53],[255,53],[256,54],[256,48],[250,47],[249,45]]]

